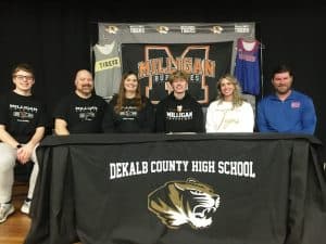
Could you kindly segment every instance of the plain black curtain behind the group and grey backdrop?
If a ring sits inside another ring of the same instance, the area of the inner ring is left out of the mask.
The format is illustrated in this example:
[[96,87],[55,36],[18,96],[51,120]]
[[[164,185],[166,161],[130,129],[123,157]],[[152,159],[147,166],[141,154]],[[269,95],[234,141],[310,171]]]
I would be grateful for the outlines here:
[[[59,99],[74,88],[79,68],[92,68],[90,46],[97,42],[98,22],[254,22],[256,38],[263,43],[263,93],[272,91],[271,70],[278,63],[294,72],[294,89],[312,97],[316,113],[315,136],[326,140],[326,101],[324,60],[325,8],[322,5],[261,8],[261,2],[246,5],[223,4],[198,8],[174,1],[160,9],[143,2],[102,1],[1,1],[0,3],[0,94],[12,88],[11,68],[28,62],[36,69],[35,93],[47,104],[49,117]],[[146,8],[145,8],[146,7]],[[326,150],[323,160],[326,160]]]

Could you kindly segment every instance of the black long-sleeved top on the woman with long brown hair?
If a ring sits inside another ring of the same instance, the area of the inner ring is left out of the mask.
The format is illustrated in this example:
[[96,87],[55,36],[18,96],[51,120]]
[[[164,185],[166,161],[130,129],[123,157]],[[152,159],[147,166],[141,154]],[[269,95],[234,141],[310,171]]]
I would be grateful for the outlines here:
[[115,95],[105,111],[103,119],[104,132],[153,132],[154,130],[154,107],[146,97],[142,97],[145,106],[137,111],[136,100],[126,99],[121,112],[114,112],[117,97]]

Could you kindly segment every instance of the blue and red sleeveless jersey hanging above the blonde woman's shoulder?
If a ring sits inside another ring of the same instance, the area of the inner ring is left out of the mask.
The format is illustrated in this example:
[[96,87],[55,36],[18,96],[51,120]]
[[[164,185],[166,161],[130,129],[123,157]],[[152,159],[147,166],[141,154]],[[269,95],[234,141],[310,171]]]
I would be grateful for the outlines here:
[[246,41],[239,38],[237,42],[235,76],[243,93],[253,95],[260,93],[259,47],[258,40]]

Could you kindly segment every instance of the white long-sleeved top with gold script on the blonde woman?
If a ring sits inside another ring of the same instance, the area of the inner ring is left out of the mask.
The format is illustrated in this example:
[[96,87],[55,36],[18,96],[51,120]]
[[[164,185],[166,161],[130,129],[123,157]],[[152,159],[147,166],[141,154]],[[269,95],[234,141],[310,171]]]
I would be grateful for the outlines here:
[[231,102],[214,101],[206,113],[206,132],[253,132],[254,115],[250,103],[233,107]]

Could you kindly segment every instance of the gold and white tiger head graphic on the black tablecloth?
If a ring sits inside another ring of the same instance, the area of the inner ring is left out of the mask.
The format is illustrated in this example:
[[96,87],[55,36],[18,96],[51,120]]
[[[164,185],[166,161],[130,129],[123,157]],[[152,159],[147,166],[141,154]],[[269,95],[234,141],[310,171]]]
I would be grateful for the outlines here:
[[208,228],[218,206],[220,195],[196,179],[168,181],[148,195],[149,210],[171,229],[185,223],[193,229]]

